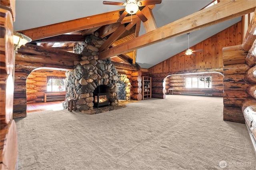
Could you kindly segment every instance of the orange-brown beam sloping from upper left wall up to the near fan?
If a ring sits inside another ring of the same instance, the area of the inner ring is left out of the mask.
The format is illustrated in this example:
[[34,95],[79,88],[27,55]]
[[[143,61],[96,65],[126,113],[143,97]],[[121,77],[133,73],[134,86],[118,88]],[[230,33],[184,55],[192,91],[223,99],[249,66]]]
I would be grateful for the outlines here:
[[[65,33],[81,31],[84,29],[90,29],[90,28],[99,27],[102,25],[116,23],[118,18],[120,17],[119,12],[123,10],[124,9],[116,10],[112,12],[106,12],[106,13],[98,14],[95,16],[88,16],[88,17],[79,18],[76,20],[70,20],[70,21],[55,23],[52,25],[26,29],[18,32],[23,33],[24,35],[30,37],[32,41],[34,41],[37,39],[53,37],[56,35],[62,35]],[[135,18],[138,18],[138,16],[136,15],[132,16],[132,19],[135,19]],[[131,20],[130,16],[126,17],[124,18],[123,23],[128,23],[130,22],[130,20]]]

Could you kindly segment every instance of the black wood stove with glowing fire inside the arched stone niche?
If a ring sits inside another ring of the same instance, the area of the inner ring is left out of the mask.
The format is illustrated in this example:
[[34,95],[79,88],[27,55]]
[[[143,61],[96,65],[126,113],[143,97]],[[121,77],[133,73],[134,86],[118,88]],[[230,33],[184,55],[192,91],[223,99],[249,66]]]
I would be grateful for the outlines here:
[[98,86],[94,90],[94,107],[109,106],[109,87],[105,85]]

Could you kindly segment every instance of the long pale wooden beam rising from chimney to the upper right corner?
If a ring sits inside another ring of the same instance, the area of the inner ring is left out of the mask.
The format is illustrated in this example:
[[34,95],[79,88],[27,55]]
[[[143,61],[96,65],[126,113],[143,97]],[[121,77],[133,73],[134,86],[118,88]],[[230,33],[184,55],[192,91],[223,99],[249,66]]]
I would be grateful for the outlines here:
[[[99,59],[127,53],[185,33],[254,12],[254,0],[224,0],[209,8],[164,25],[130,41],[100,52]],[[228,10],[232,9],[232,10]]]

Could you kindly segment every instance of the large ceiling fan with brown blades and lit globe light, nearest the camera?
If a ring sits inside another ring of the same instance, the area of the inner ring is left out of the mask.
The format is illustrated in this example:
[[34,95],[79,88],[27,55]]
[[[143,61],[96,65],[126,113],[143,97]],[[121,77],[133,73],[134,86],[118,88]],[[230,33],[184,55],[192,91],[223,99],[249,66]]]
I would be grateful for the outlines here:
[[126,0],[124,3],[122,2],[111,2],[111,1],[103,1],[103,4],[106,5],[119,5],[125,6],[125,11],[122,13],[120,18],[117,20],[121,22],[127,14],[134,15],[136,14],[142,22],[146,22],[148,19],[142,14],[139,7],[153,5],[153,4],[161,4],[162,0]]

